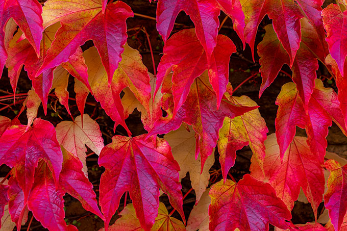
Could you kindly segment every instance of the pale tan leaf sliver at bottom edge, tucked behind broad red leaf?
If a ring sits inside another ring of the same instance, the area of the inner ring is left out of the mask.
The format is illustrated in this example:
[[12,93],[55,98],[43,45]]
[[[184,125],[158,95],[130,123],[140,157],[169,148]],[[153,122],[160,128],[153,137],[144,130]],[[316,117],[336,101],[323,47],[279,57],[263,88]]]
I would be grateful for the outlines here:
[[195,204],[189,214],[187,221],[187,231],[209,230],[208,207],[211,204],[211,198],[208,196],[210,189],[208,188],[200,198],[199,203]]

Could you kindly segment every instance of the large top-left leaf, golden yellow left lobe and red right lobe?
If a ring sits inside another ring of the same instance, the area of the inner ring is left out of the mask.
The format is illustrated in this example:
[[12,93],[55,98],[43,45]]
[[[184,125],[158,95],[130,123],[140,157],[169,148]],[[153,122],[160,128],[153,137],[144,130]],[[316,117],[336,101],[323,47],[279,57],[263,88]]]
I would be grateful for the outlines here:
[[85,0],[83,4],[78,1],[47,1],[42,12],[43,26],[46,28],[58,21],[62,26],[36,75],[67,62],[80,45],[91,39],[111,83],[127,41],[126,19],[132,16],[130,7],[121,1],[109,4],[104,13],[100,1]]

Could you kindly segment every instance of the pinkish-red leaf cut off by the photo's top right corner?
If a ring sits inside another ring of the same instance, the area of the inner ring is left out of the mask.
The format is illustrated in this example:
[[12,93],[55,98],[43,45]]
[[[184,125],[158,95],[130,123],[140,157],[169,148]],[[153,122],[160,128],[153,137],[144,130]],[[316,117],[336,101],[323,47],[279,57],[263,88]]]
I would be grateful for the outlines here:
[[340,73],[344,73],[344,62],[347,56],[347,12],[342,13],[338,5],[330,4],[321,12],[321,15],[323,15],[324,27],[327,31],[326,40],[330,54],[336,61]]

